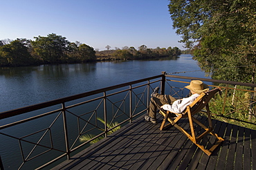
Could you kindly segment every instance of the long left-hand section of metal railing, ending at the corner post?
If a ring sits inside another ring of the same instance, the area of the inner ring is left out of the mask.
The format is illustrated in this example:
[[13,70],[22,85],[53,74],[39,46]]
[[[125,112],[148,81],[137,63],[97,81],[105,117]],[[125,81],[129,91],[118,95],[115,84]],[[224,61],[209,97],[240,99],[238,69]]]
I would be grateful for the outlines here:
[[[107,137],[112,129],[147,113],[149,95],[161,84],[162,77],[157,75],[0,113],[1,165],[8,169],[42,169],[62,162],[65,157],[71,158],[88,147],[89,142],[102,135]],[[110,127],[112,122],[118,123]],[[80,142],[80,137],[86,134],[94,136]]]

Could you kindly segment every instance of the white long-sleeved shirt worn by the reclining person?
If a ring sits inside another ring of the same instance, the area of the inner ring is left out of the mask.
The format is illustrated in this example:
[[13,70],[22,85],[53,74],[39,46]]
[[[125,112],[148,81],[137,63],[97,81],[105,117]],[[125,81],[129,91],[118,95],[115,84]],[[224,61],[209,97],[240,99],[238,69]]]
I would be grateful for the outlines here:
[[195,93],[194,95],[183,98],[182,100],[175,100],[172,105],[164,104],[161,108],[171,111],[172,113],[182,113],[188,105],[192,104],[192,102],[196,100],[197,97],[199,97],[199,94]]

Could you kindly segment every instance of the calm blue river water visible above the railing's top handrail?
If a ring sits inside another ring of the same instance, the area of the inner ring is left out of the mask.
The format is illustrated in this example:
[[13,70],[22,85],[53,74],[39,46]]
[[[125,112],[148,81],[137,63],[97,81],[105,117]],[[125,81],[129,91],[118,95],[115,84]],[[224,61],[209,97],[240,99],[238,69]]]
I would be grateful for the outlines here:
[[191,55],[176,59],[0,68],[0,112],[159,75],[162,71],[205,77],[199,70]]

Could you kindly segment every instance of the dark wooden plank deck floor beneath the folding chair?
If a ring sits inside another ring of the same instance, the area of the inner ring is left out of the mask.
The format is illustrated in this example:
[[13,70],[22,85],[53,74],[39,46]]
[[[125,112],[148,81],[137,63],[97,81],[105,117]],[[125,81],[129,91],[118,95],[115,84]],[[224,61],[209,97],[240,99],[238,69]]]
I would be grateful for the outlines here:
[[[256,169],[254,130],[213,120],[214,132],[225,141],[208,156],[176,128],[160,131],[160,122],[142,116],[53,169]],[[187,129],[187,120],[181,126]],[[209,137],[201,142],[212,143]]]

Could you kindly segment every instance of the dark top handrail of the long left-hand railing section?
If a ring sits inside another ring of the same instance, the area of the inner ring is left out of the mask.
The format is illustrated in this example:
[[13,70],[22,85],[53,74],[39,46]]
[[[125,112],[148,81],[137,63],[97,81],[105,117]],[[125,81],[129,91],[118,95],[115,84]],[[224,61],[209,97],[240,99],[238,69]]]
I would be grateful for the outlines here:
[[39,110],[41,108],[45,108],[45,107],[49,107],[49,106],[55,106],[57,104],[62,104],[64,102],[70,102],[72,100],[77,100],[77,99],[87,97],[87,96],[90,96],[90,95],[103,93],[105,91],[111,91],[111,90],[114,90],[116,88],[122,88],[124,86],[129,86],[131,84],[138,84],[140,82],[145,82],[149,79],[156,79],[156,78],[159,78],[159,77],[162,77],[162,75],[156,75],[156,76],[148,77],[148,78],[145,78],[145,79],[139,79],[139,80],[136,80],[136,81],[133,81],[133,82],[127,82],[127,83],[124,83],[124,84],[118,84],[118,85],[110,86],[110,87],[107,87],[107,88],[100,88],[100,89],[95,90],[95,91],[89,91],[89,92],[81,93],[81,94],[78,94],[78,95],[72,95],[72,96],[60,98],[60,99],[57,99],[57,100],[51,100],[49,102],[43,102],[43,103],[40,103],[40,104],[34,104],[34,105],[26,106],[26,107],[23,107],[23,108],[17,108],[15,110],[0,113],[0,119],[4,119],[4,118],[7,118],[7,117],[12,117],[12,116],[15,116],[15,115],[20,115],[22,113],[28,113],[30,111],[36,111],[36,110]]

